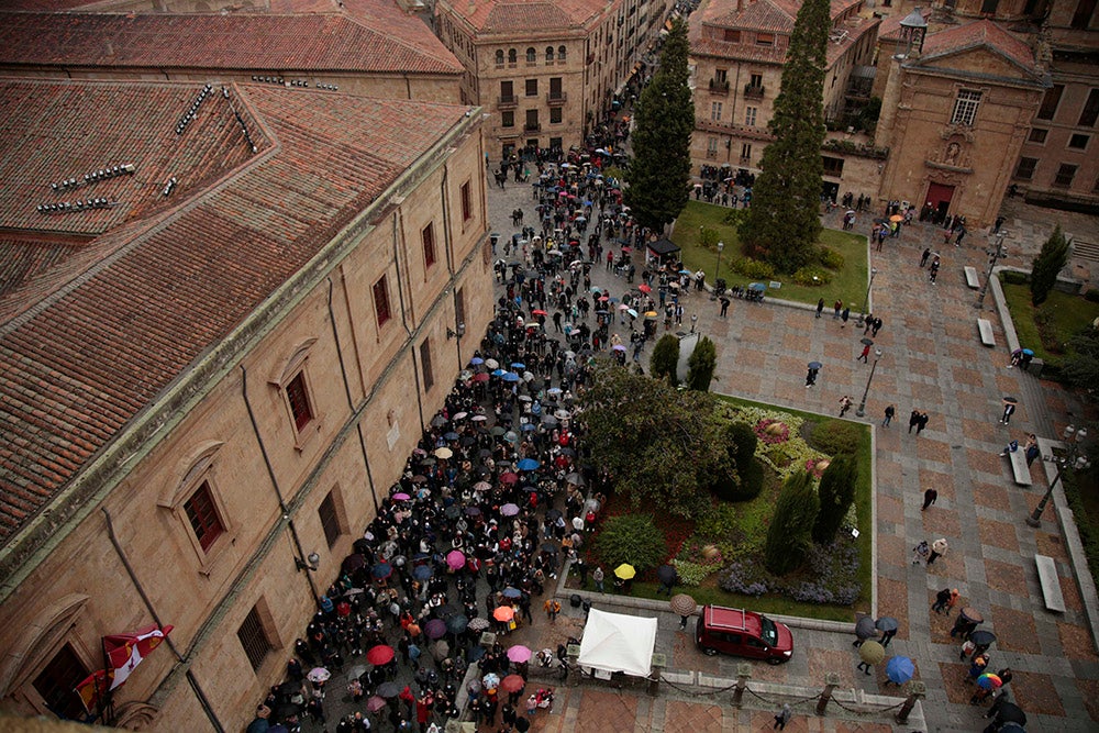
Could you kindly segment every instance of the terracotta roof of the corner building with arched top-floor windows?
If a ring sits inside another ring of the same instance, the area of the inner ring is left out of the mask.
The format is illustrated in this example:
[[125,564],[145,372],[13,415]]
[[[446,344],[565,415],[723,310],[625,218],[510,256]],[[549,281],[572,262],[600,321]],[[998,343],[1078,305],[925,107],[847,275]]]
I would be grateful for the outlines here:
[[555,31],[578,29],[608,10],[606,0],[449,0],[455,15],[478,31]]

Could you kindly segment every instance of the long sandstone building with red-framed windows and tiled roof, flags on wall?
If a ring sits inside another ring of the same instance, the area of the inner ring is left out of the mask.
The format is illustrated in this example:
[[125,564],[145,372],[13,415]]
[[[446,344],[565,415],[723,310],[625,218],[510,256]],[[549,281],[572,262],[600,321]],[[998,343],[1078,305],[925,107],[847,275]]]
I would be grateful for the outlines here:
[[243,730],[492,313],[476,109],[200,89],[0,81],[5,712]]

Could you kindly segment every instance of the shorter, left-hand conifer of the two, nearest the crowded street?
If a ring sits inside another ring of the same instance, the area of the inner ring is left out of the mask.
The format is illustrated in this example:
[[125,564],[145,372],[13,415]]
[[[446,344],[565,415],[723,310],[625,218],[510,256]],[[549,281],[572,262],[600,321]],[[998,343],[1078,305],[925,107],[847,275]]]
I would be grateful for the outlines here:
[[687,206],[695,129],[687,81],[687,24],[677,19],[664,41],[660,65],[634,110],[633,159],[625,176],[625,202],[637,223],[655,232]]

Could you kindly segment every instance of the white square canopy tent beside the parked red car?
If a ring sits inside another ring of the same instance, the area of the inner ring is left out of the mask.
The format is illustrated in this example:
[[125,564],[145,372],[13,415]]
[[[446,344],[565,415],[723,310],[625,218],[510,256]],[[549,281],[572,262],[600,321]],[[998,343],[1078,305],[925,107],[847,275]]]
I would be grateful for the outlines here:
[[648,677],[655,646],[656,619],[591,609],[577,663],[604,673]]

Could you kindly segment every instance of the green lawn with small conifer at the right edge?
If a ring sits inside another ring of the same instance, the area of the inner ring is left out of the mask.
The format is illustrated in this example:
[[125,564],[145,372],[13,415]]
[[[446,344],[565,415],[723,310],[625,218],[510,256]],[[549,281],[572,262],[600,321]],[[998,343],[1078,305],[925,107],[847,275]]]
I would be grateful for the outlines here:
[[[1000,285],[1019,344],[1034,349],[1034,355],[1051,366],[1061,366],[1068,352],[1068,340],[1099,316],[1099,303],[1080,296],[1051,290],[1048,299],[1034,308],[1029,285],[1004,282],[1002,277]],[[1039,325],[1042,319],[1046,319],[1047,323],[1044,330]]]

